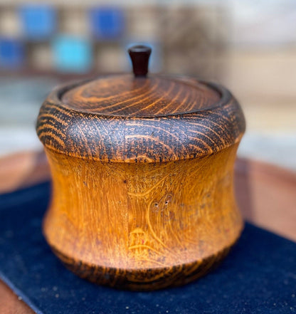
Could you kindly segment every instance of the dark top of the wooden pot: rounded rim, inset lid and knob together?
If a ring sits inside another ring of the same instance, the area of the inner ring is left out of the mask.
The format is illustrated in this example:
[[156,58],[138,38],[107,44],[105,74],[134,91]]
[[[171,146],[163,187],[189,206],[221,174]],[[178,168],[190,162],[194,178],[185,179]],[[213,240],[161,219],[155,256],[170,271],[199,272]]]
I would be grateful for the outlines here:
[[168,162],[210,155],[239,142],[240,106],[220,85],[147,75],[151,50],[129,50],[134,75],[112,75],[54,90],[38,136],[48,149],[105,162]]

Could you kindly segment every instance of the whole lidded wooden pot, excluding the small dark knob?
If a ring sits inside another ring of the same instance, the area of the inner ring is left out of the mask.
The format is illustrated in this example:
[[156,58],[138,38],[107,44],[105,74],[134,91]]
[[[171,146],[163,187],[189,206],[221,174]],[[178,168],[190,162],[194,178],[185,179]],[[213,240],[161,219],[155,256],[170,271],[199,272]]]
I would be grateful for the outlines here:
[[233,164],[244,130],[231,93],[192,78],[59,88],[37,124],[53,175],[48,244],[79,276],[118,288],[202,276],[243,227]]

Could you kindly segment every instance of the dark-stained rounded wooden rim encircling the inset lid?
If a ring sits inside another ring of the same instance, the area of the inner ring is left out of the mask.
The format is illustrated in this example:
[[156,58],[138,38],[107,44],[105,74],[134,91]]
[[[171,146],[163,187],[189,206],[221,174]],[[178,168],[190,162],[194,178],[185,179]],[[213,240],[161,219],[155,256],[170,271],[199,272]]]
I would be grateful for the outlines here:
[[211,109],[165,117],[115,117],[69,109],[60,99],[71,88],[75,85],[49,95],[38,116],[37,133],[43,145],[73,157],[105,162],[191,159],[239,142],[245,130],[240,106],[218,85],[213,88],[221,99]]

